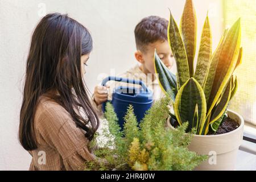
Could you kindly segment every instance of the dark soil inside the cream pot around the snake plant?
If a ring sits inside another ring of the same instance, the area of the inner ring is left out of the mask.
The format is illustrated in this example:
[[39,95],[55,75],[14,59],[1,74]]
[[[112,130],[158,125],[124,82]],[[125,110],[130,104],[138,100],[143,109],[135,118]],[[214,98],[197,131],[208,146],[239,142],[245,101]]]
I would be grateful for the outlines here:
[[[173,118],[171,118],[170,122],[171,122],[171,125],[174,126],[175,128],[179,126],[179,123]],[[236,121],[234,121],[234,119],[231,119],[228,117],[221,123],[216,133],[209,130],[208,135],[219,135],[219,134],[229,133],[230,131],[236,130],[239,126],[240,125]]]

